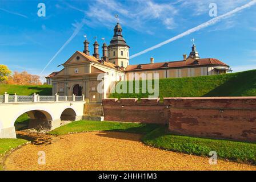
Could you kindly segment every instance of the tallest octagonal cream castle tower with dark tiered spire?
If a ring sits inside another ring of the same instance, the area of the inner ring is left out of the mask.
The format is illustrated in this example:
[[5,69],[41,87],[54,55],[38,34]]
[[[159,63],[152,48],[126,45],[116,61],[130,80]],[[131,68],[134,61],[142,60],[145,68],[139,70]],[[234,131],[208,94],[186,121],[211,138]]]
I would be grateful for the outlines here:
[[107,47],[110,63],[126,68],[129,65],[129,48],[123,39],[122,27],[117,23],[114,28],[114,36]]

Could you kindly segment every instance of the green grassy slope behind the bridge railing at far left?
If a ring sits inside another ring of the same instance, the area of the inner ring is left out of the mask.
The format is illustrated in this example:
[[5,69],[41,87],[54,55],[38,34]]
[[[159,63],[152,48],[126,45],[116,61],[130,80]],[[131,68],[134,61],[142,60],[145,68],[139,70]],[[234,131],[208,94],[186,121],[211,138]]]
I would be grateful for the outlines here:
[[51,96],[51,85],[5,85],[0,84],[0,94],[16,93],[19,96],[30,96],[37,93],[41,96]]

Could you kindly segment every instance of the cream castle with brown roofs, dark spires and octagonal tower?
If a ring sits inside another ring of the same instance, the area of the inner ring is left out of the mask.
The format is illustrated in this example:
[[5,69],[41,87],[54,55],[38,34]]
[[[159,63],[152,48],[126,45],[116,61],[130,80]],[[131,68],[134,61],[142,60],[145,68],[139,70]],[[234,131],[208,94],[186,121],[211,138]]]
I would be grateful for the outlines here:
[[[111,81],[140,79],[140,75],[158,73],[159,78],[178,78],[219,75],[229,71],[229,65],[213,58],[200,59],[195,44],[190,55],[183,55],[183,60],[154,63],[150,58],[148,64],[129,64],[129,46],[122,35],[121,24],[117,23],[114,28],[114,36],[109,46],[102,45],[102,57],[99,57],[99,44],[94,42],[94,53],[91,56],[89,42],[86,39],[83,52],[76,51],[65,63],[59,72],[53,72],[46,77],[47,84],[53,85],[53,95],[58,93],[63,96],[75,94],[85,95],[90,102],[101,102],[107,97],[107,93],[98,93],[97,79],[99,74],[105,73],[101,81],[105,86]],[[105,81],[104,81],[105,80]]]

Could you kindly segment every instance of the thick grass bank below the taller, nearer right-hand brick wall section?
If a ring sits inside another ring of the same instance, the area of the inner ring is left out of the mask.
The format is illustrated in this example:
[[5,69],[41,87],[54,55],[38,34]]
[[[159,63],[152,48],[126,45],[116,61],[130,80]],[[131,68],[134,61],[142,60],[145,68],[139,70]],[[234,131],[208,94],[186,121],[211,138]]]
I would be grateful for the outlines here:
[[210,151],[216,151],[218,158],[256,165],[256,143],[174,135],[166,127],[144,135],[142,141],[149,146],[199,156],[209,156]]

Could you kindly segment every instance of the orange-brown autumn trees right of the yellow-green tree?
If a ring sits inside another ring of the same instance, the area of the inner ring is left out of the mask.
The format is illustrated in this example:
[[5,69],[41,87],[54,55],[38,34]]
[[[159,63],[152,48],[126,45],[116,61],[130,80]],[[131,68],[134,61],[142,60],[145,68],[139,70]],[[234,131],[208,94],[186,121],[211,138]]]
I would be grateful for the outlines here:
[[15,71],[13,75],[9,77],[8,84],[13,85],[42,85],[40,77],[38,75],[31,75],[26,71],[21,73]]

